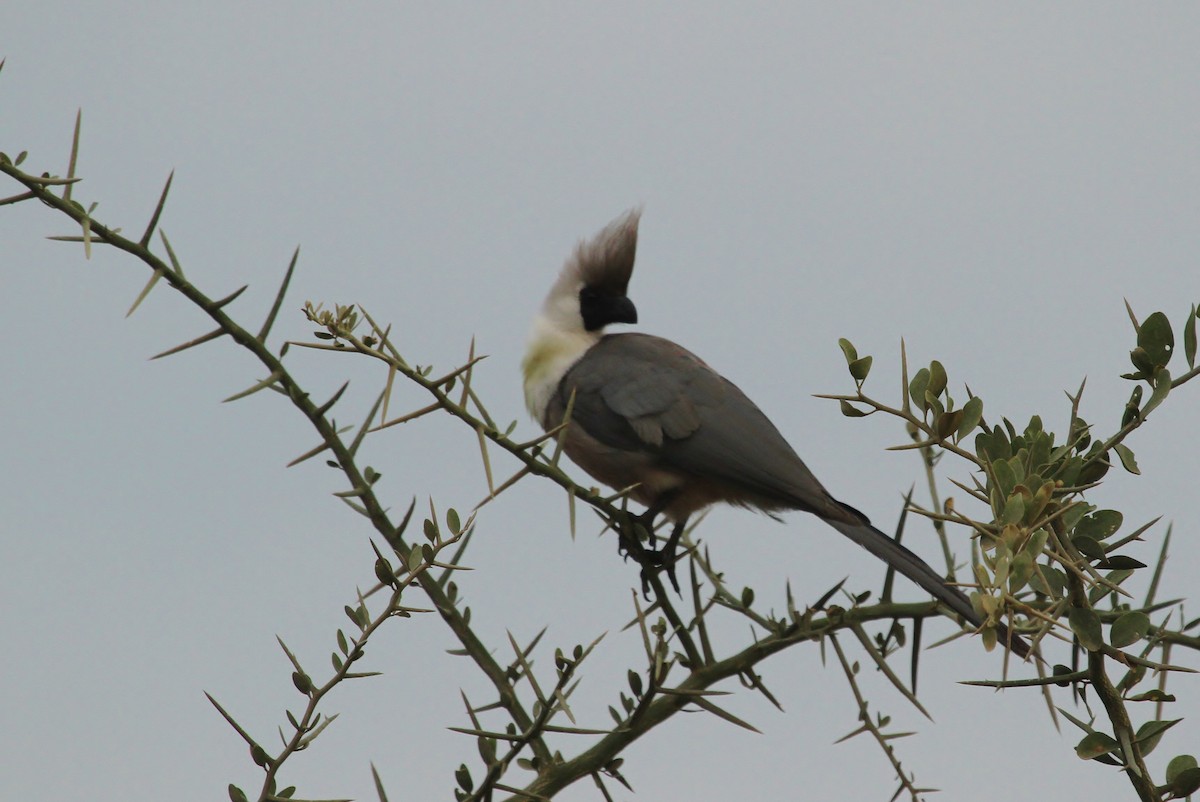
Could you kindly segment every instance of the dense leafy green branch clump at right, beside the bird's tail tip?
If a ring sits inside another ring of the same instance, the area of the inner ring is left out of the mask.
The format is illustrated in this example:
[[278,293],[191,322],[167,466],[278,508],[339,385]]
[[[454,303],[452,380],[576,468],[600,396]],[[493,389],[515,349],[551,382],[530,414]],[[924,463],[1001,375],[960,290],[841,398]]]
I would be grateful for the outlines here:
[[[1068,640],[1073,665],[1085,664],[1076,669],[1055,666],[1050,677],[1039,665],[1040,681],[1006,680],[980,684],[1038,687],[1046,694],[1052,717],[1056,707],[1049,695],[1051,683],[1069,684],[1078,700],[1082,700],[1082,687],[1090,687],[1103,704],[1112,732],[1098,731],[1068,716],[1086,732],[1076,753],[1085,759],[1120,766],[1139,798],[1148,802],[1163,798],[1163,794],[1174,798],[1200,789],[1200,773],[1189,773],[1189,770],[1171,771],[1165,784],[1156,785],[1145,762],[1162,734],[1175,723],[1162,719],[1162,705],[1174,700],[1165,692],[1166,676],[1194,672],[1190,668],[1171,664],[1170,646],[1187,642],[1193,648],[1200,647],[1200,640],[1187,634],[1200,627],[1200,620],[1183,623],[1175,630],[1165,622],[1158,628],[1152,626],[1151,615],[1180,604],[1178,600],[1162,603],[1154,598],[1166,563],[1170,532],[1164,538],[1145,599],[1135,605],[1124,585],[1146,564],[1122,550],[1140,541],[1154,521],[1118,538],[1116,534],[1123,523],[1121,513],[1098,509],[1085,493],[1099,486],[1112,463],[1111,454],[1130,473],[1139,472],[1127,438],[1147,421],[1150,413],[1172,389],[1190,381],[1200,367],[1196,366],[1195,305],[1183,323],[1187,370],[1177,378],[1168,370],[1175,352],[1175,336],[1166,316],[1156,312],[1139,324],[1129,309],[1129,317],[1136,335],[1136,346],[1130,352],[1135,370],[1122,378],[1138,384],[1126,405],[1121,427],[1104,439],[1093,438],[1092,427],[1079,414],[1082,385],[1074,395],[1068,395],[1069,436],[1063,443],[1056,442],[1038,417],[1020,432],[1008,419],[989,427],[982,399],[967,390],[967,401],[961,407],[955,403],[941,363],[934,360],[910,378],[902,343],[900,405],[883,403],[863,391],[872,360],[859,357],[846,340],[841,341],[841,348],[854,381],[854,393],[822,397],[836,400],[847,417],[883,413],[904,421],[912,443],[894,448],[920,451],[934,499],[932,509],[913,509],[937,527],[946,523],[967,527],[982,547],[983,561],[974,565],[976,591],[972,593],[977,610],[990,621],[1006,617],[1010,624],[1020,616],[1034,642],[1043,642],[1051,635]],[[1150,396],[1141,403],[1145,389],[1150,390]],[[972,435],[973,443],[968,439]],[[932,472],[947,453],[968,465],[970,481],[955,480],[954,484],[986,508],[985,517],[970,517],[952,501],[938,504]],[[952,569],[953,562],[947,551]],[[1109,599],[1108,610],[1097,606],[1104,599]],[[1110,628],[1108,640],[1103,632],[1105,623]],[[995,630],[985,628],[983,632],[985,639],[995,638]],[[1139,644],[1140,653],[1129,651]],[[1153,652],[1158,652],[1160,659],[1150,659]],[[1116,684],[1109,678],[1112,669],[1124,672]],[[1158,687],[1142,694],[1130,693],[1150,671],[1158,674]],[[1128,702],[1146,700],[1157,702],[1156,718],[1135,729]],[[1188,759],[1189,755],[1180,755],[1171,765],[1186,765]]]

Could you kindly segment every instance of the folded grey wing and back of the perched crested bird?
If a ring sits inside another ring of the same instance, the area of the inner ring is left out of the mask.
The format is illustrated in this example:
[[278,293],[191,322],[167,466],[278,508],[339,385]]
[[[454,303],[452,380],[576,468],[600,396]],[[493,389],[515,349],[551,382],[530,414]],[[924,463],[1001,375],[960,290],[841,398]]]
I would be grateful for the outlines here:
[[845,515],[848,508],[742,390],[670,340],[604,337],[563,377],[564,405],[572,391],[572,423],[606,445],[652,454],[662,467],[737,487],[768,509],[865,521]]

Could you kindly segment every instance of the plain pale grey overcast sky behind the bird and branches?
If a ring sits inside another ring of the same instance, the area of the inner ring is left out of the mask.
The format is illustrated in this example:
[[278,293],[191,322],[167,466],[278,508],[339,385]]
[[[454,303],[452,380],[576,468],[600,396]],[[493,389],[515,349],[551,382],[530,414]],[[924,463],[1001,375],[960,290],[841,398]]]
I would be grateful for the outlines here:
[[[644,204],[641,330],[737,382],[883,528],[919,463],[884,451],[904,438],[895,423],[811,397],[851,388],[838,337],[875,355],[881,400],[896,400],[905,337],[914,365],[940,359],[994,420],[1040,413],[1061,435],[1063,390],[1086,376],[1081,414],[1117,426],[1134,342],[1123,299],[1176,324],[1200,300],[1200,7],[680,7],[10,4],[0,149],[65,173],[82,107],[76,197],[98,200],[98,220],[140,232],[175,169],[162,227],[210,295],[251,283],[232,307],[247,328],[299,244],[276,345],[310,336],[306,299],[365,304],[416,363],[449,367],[474,336],[490,354],[476,390],[530,436],[529,319],[577,239]],[[228,342],[148,361],[209,323],[166,288],[124,319],[144,267],[44,239],[64,233],[44,208],[0,209],[0,798],[257,789],[202,692],[275,743],[301,701],[275,635],[313,676],[328,670],[342,605],[373,582],[371,533],[319,460],[284,469],[316,438],[278,396],[220,403],[262,377],[256,364]],[[352,358],[293,349],[289,364],[317,396],[354,379],[347,423],[383,381]],[[1140,478],[1114,471],[1092,496],[1130,526],[1175,522],[1168,597],[1196,595],[1198,391],[1132,439]],[[404,388],[394,409],[421,403]],[[474,436],[451,420],[388,430],[366,453],[397,508],[432,496],[466,510],[486,491]],[[480,515],[476,570],[460,583],[504,659],[506,629],[523,640],[548,627],[547,674],[553,647],[608,632],[575,705],[581,725],[606,726],[640,660],[638,638],[619,633],[637,573],[581,521],[572,541],[560,493],[523,483]],[[786,580],[805,602],[844,576],[854,589],[882,576],[800,514],[778,525],[719,510],[700,534],[736,587],[776,608]],[[1132,553],[1153,562],[1162,534]],[[919,528],[910,543],[938,555]],[[746,630],[733,620],[719,638],[733,646]],[[334,694],[326,710],[342,717],[283,784],[373,798],[373,761],[392,800],[452,798],[454,768],[478,755],[445,728],[468,725],[460,688],[487,698],[452,646],[434,617],[389,627],[365,665],[385,675]],[[1013,798],[1014,785],[1130,797],[1114,770],[1074,758],[1079,732],[1056,735],[1037,694],[956,684],[1000,670],[977,641],[923,663],[935,724],[874,672],[864,682],[874,711],[919,731],[896,748],[937,798]],[[636,796],[612,784],[618,798],[890,796],[875,746],[833,744],[857,725],[835,664],[810,646],[762,672],[785,713],[736,683],[724,704],[763,735],[679,717],[626,754]],[[1169,716],[1187,720],[1153,755],[1159,777],[1200,742],[1200,687],[1172,683],[1183,701]],[[560,798],[599,796],[580,783]]]

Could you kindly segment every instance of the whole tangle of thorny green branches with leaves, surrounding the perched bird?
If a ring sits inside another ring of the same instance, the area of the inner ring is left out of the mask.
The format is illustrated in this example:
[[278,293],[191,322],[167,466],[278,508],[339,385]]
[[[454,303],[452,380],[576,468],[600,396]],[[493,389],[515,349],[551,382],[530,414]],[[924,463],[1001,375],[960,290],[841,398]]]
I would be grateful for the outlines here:
[[[528,644],[518,645],[510,635],[514,658],[502,664],[470,624],[470,609],[460,604],[455,581],[462,570],[462,557],[476,528],[478,511],[506,492],[518,481],[534,475],[556,483],[568,496],[572,532],[576,527],[576,505],[583,503],[595,511],[606,528],[613,528],[626,540],[636,541],[638,526],[626,511],[623,492],[602,495],[595,489],[576,484],[562,469],[560,437],[563,426],[528,442],[512,438],[516,421],[505,429],[496,423],[473,385],[474,367],[484,357],[476,355],[472,343],[463,364],[437,373],[431,366],[419,366],[406,359],[391,341],[391,328],[378,323],[365,309],[352,305],[334,305],[330,309],[307,303],[306,319],[318,327],[316,341],[283,342],[277,352],[268,346],[270,333],[283,309],[286,295],[293,281],[299,251],[284,271],[278,291],[262,323],[245,327],[229,313],[233,303],[246,287],[240,287],[220,298],[212,298],[192,283],[172,247],[160,222],[164,211],[172,179],[168,178],[149,223],[138,239],[130,239],[119,228],[110,228],[95,217],[96,204],[84,205],[72,197],[73,187],[80,180],[76,175],[79,148],[79,122],[77,118],[72,152],[65,178],[49,173],[34,175],[20,169],[25,155],[14,160],[0,154],[0,172],[22,185],[18,194],[0,199],[0,205],[13,205],[38,200],[54,211],[65,215],[79,227],[79,234],[53,239],[82,243],[85,256],[95,246],[115,247],[142,262],[150,271],[143,289],[130,306],[132,315],[149,294],[160,285],[179,292],[190,304],[198,307],[215,328],[158,353],[155,358],[178,354],[182,351],[229,337],[258,360],[265,375],[245,390],[227,401],[247,397],[262,390],[283,395],[288,402],[313,426],[318,442],[298,455],[289,465],[298,465],[316,456],[324,456],[328,465],[341,472],[346,487],[337,496],[348,508],[362,515],[378,534],[385,549],[372,544],[374,575],[378,583],[356,594],[356,602],[347,606],[347,616],[354,624],[352,635],[338,630],[337,651],[331,656],[332,675],[317,686],[300,659],[283,645],[293,665],[293,683],[306,698],[299,716],[287,712],[290,734],[281,729],[282,749],[271,755],[262,741],[248,734],[216,700],[212,704],[251,748],[251,756],[263,772],[259,800],[294,798],[294,788],[277,790],[278,776],[284,762],[308,748],[317,736],[336,718],[319,712],[322,702],[340,683],[371,676],[360,670],[370,638],[389,622],[410,615],[436,611],[454,633],[460,648],[456,654],[467,657],[488,681],[494,699],[475,705],[463,698],[470,726],[452,728],[476,738],[482,765],[481,779],[476,783],[470,768],[463,764],[455,771],[458,800],[492,800],[496,794],[509,794],[512,800],[545,800],[568,785],[590,778],[605,798],[611,798],[606,778],[628,786],[620,770],[624,750],[636,740],[676,713],[692,708],[714,714],[736,726],[754,730],[754,726],[733,716],[715,701],[721,694],[716,686],[728,680],[739,680],[743,687],[762,694],[778,706],[758,666],[767,658],[804,641],[833,644],[847,686],[856,702],[856,716],[862,723],[857,732],[870,732],[886,758],[892,764],[900,782],[898,794],[906,792],[913,800],[926,792],[918,788],[910,774],[901,768],[893,752],[893,741],[902,734],[886,731],[888,719],[870,717],[868,701],[857,683],[858,663],[851,662],[839,633],[853,634],[864,653],[893,687],[918,711],[924,708],[916,695],[916,666],[922,639],[923,622],[940,616],[936,604],[900,604],[890,600],[890,573],[884,581],[877,604],[866,604],[869,594],[850,594],[841,583],[830,588],[820,599],[798,608],[791,588],[785,589],[784,611],[764,611],[756,606],[756,593],[751,588],[737,592],[731,588],[725,575],[718,570],[702,543],[688,533],[683,547],[688,553],[690,581],[686,593],[676,598],[666,591],[658,573],[649,571],[647,582],[653,603],[643,609],[643,603],[632,597],[634,618],[644,646],[644,665],[629,669],[625,675],[628,688],[618,693],[618,701],[610,707],[613,725],[582,726],[576,723],[569,700],[578,683],[578,669],[600,644],[594,639],[587,647],[554,650],[553,681],[539,680],[534,671],[533,656],[541,634]],[[160,253],[152,244],[157,235]],[[1130,317],[1132,312],[1130,312]],[[1165,325],[1165,316],[1158,313],[1145,323],[1134,325],[1138,347],[1132,354],[1135,372],[1128,378],[1139,382],[1134,396],[1127,405],[1121,429],[1104,441],[1093,441],[1091,427],[1079,418],[1080,393],[1072,396],[1072,413],[1066,442],[1056,443],[1052,433],[1043,430],[1040,419],[1034,418],[1024,431],[1018,432],[1008,421],[988,426],[983,418],[983,401],[970,396],[958,408],[948,393],[944,367],[934,361],[919,370],[912,379],[907,375],[907,358],[904,363],[904,393],[898,406],[888,406],[863,394],[871,366],[871,358],[859,358],[853,346],[842,341],[850,372],[856,382],[852,395],[827,396],[841,402],[847,415],[884,413],[900,418],[912,436],[912,442],[898,448],[916,449],[924,460],[930,486],[931,507],[911,509],[926,516],[938,532],[947,569],[953,576],[956,568],[949,546],[948,525],[966,527],[978,539],[982,562],[973,565],[974,592],[972,600],[983,616],[998,622],[1004,620],[1032,634],[1044,645],[1057,640],[1072,645],[1073,662],[1086,663],[1075,670],[1058,670],[1046,675],[1042,664],[1037,665],[1039,680],[1034,684],[1049,694],[1051,683],[1067,683],[1081,696],[1081,689],[1093,688],[1103,701],[1112,735],[1100,732],[1091,723],[1068,716],[1081,725],[1086,736],[1080,742],[1085,756],[1100,762],[1121,766],[1142,800],[1158,800],[1163,794],[1182,796],[1200,788],[1200,772],[1195,761],[1188,764],[1188,755],[1180,755],[1168,768],[1166,784],[1156,786],[1145,766],[1145,755],[1157,746],[1170,722],[1162,718],[1162,706],[1171,699],[1165,690],[1169,672],[1189,670],[1171,665],[1170,650],[1200,648],[1200,639],[1189,634],[1200,621],[1183,622],[1171,628],[1176,602],[1157,602],[1154,589],[1157,577],[1165,565],[1165,543],[1156,569],[1151,591],[1141,605],[1134,606],[1128,599],[1130,592],[1126,580],[1134,571],[1145,568],[1121,550],[1140,539],[1151,525],[1117,538],[1122,520],[1115,510],[1099,510],[1091,505],[1084,493],[1096,487],[1110,467],[1110,454],[1121,463],[1136,471],[1133,453],[1126,439],[1140,427],[1148,413],[1162,403],[1168,393],[1189,381],[1198,372],[1195,367],[1195,309],[1189,313],[1183,328],[1184,352],[1189,370],[1177,378],[1166,372],[1166,363],[1174,351],[1174,335]],[[366,323],[366,331],[358,329]],[[338,426],[332,411],[343,399],[343,384],[332,396],[317,402],[293,377],[284,365],[284,358],[293,347],[361,357],[380,364],[384,375],[383,389],[358,426]],[[428,403],[389,417],[396,378],[420,387],[428,395]],[[1148,400],[1141,403],[1139,390],[1150,390]],[[476,439],[480,462],[487,483],[487,495],[473,508],[466,521],[455,510],[449,510],[444,521],[439,520],[431,502],[430,516],[422,521],[416,538],[408,535],[415,502],[398,522],[388,514],[388,507],[379,496],[380,472],[358,462],[359,449],[368,435],[418,420],[427,414],[449,414],[458,420]],[[378,421],[378,423],[377,423]],[[973,444],[968,437],[974,435]],[[943,454],[949,453],[966,460],[973,471],[968,481],[956,483],[971,498],[985,505],[989,514],[968,517],[953,502],[940,501],[934,472]],[[497,479],[493,473],[498,459],[512,459],[516,469]],[[904,529],[898,527],[896,537]],[[641,534],[646,534],[641,532]],[[418,543],[424,535],[425,541]],[[445,552],[445,553],[444,553]],[[450,553],[452,552],[452,553]],[[394,568],[394,562],[398,568]],[[406,593],[420,592],[428,605],[409,606],[402,603]],[[368,604],[377,594],[382,603]],[[841,595],[839,595],[841,594]],[[845,602],[847,606],[834,603]],[[1109,600],[1108,609],[1098,605]],[[1171,609],[1168,617],[1154,626],[1150,616]],[[720,656],[709,636],[714,615],[738,616],[751,624],[752,641]],[[898,622],[912,624],[912,680],[906,686],[892,670],[888,659],[907,645],[907,634]],[[864,624],[890,622],[884,635],[874,639]],[[1109,627],[1109,638],[1103,638],[1103,626]],[[995,645],[996,630],[983,629],[984,642]],[[1141,645],[1140,652],[1129,647]],[[1157,652],[1158,659],[1151,659]],[[1081,660],[1082,658],[1082,660]],[[1115,684],[1109,671],[1114,668],[1126,671]],[[1157,672],[1158,686],[1133,693]],[[1024,684],[1022,684],[1024,683]],[[1002,680],[996,687],[1025,687],[1030,681]],[[527,704],[532,694],[532,704]],[[210,698],[211,699],[211,698]],[[1049,695],[1048,695],[1049,700]],[[1136,730],[1128,714],[1129,704],[1154,701],[1154,719]],[[1054,711],[1054,707],[1051,707]],[[1066,714],[1066,713],[1064,713]],[[499,717],[499,723],[493,718]],[[563,719],[570,724],[562,724]],[[1100,737],[1103,736],[1103,737]],[[1109,738],[1104,741],[1103,738]],[[559,747],[568,741],[584,738],[583,746],[564,756]],[[533,778],[515,782],[510,779],[512,768],[533,772]],[[1192,783],[1195,783],[1193,785]],[[383,798],[382,783],[380,789]],[[1189,790],[1190,789],[1190,790]],[[230,786],[233,798],[245,795]]]

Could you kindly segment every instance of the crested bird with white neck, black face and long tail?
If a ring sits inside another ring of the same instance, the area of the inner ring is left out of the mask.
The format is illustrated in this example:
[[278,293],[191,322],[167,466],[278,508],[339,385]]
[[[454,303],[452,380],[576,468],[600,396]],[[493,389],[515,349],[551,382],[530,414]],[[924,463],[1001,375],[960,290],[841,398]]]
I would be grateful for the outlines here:
[[[772,515],[803,510],[982,627],[959,588],[834,498],[737,385],[670,340],[606,331],[637,323],[628,291],[640,219],[641,209],[630,209],[580,241],[534,318],[522,360],[526,406],[546,431],[565,421],[560,437],[571,461],[647,508],[637,520],[652,543],[655,516],[673,522],[661,551],[640,550],[625,538],[626,553],[634,550],[672,568],[689,517],[715,503]],[[1002,623],[994,626],[1000,642],[1028,654],[1022,639]]]

